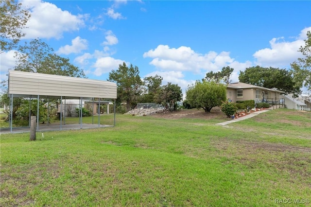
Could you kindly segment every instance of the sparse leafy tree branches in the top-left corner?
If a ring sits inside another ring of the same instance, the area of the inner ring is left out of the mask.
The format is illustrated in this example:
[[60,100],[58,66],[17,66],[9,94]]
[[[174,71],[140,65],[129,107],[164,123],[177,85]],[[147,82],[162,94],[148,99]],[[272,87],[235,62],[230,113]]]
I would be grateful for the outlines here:
[[25,33],[22,29],[30,18],[30,13],[21,8],[17,0],[1,0],[0,53],[12,50]]

